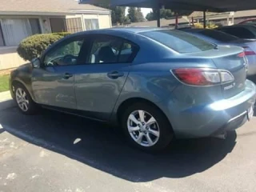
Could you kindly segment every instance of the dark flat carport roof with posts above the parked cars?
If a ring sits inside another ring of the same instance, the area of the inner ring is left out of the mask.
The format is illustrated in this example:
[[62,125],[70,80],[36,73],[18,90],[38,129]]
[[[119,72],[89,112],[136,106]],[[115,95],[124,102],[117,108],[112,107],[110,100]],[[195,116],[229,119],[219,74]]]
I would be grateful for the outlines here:
[[[236,10],[256,9],[255,0],[80,0],[81,3],[105,3],[110,6],[134,6],[154,8],[158,12],[158,27],[160,27],[160,9],[203,11],[203,26],[206,28],[206,11],[226,12]],[[178,16],[176,16],[178,17]],[[176,19],[176,22],[178,19]],[[176,23],[177,26],[177,23]]]

